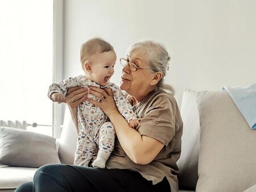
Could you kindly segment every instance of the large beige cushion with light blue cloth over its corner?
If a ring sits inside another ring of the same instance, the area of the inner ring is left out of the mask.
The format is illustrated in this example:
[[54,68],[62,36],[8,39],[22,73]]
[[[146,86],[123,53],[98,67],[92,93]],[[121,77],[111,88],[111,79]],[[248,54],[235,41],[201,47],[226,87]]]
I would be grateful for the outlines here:
[[200,117],[197,192],[243,191],[256,183],[256,130],[225,90],[196,93]]

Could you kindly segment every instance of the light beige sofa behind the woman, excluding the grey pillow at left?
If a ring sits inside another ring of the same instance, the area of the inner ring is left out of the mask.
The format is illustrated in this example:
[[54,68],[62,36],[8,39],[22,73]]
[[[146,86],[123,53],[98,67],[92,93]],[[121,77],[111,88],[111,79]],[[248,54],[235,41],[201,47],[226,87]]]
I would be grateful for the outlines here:
[[[179,191],[256,191],[256,130],[246,123],[225,90],[184,90],[180,107],[184,128]],[[76,130],[66,110],[60,139],[60,162],[72,164]],[[14,191],[31,181],[37,168],[0,165],[0,191]]]

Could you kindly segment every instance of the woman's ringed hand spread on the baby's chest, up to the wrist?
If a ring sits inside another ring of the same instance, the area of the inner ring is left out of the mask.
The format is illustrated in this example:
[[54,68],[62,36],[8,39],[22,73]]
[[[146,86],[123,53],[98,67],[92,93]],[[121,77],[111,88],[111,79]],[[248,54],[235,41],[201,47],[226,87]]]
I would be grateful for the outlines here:
[[89,101],[96,107],[100,107],[109,118],[110,118],[110,115],[119,113],[117,106],[115,105],[113,92],[110,88],[100,89],[98,87],[90,87],[89,93],[93,94],[100,100],[94,101],[93,99],[88,98],[87,101]]

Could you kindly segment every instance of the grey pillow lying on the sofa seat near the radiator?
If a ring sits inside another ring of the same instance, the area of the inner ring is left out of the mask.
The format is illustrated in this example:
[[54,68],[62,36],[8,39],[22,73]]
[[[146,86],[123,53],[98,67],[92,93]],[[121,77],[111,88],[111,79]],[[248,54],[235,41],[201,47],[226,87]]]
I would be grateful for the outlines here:
[[59,164],[55,138],[10,127],[0,127],[0,164],[38,168]]

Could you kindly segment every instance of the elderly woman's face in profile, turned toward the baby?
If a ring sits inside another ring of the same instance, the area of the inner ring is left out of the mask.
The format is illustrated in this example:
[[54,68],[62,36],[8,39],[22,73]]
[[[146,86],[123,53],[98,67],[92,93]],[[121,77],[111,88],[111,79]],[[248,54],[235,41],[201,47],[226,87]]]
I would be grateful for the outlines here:
[[[126,58],[127,61],[133,62],[139,68],[150,68],[146,63],[144,55],[141,53],[132,53]],[[123,74],[121,77],[120,88],[125,90],[131,96],[136,98],[137,95],[140,97],[146,96],[146,94],[152,89],[150,82],[154,77],[152,70],[138,69],[133,72],[129,65],[123,67]]]

